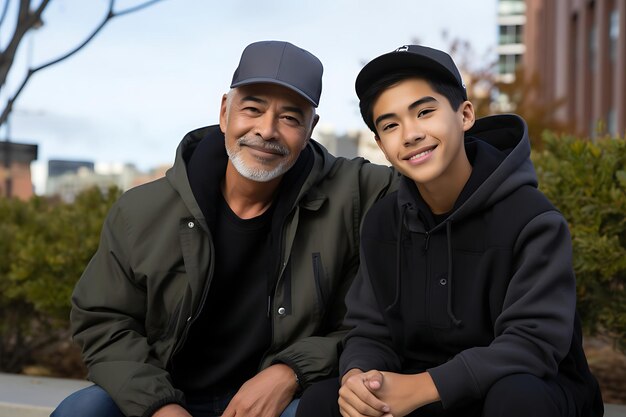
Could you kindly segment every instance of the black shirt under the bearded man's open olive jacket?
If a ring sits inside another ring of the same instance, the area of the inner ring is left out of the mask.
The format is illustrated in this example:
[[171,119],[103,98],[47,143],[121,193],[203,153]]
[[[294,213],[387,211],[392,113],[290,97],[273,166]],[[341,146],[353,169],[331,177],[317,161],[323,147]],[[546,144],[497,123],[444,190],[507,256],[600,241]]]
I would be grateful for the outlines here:
[[271,345],[268,307],[280,267],[280,234],[313,166],[306,147],[285,173],[272,206],[243,220],[220,191],[228,157],[224,138],[207,136],[186,157],[187,176],[215,247],[212,282],[202,311],[173,358],[174,386],[201,402],[238,390],[259,370]]

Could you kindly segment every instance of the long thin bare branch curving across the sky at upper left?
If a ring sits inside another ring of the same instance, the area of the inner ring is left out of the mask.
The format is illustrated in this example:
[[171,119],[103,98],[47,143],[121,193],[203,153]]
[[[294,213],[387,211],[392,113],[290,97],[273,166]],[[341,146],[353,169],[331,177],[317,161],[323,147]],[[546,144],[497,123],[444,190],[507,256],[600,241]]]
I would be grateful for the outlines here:
[[[24,2],[25,0],[22,0],[22,2]],[[49,0],[43,0],[42,1],[42,5],[39,7],[39,9],[41,9],[41,11],[43,11],[43,8],[45,8],[46,4],[48,3]],[[67,58],[71,57],[72,55],[74,55],[75,53],[77,53],[78,51],[80,51],[81,49],[83,49],[89,42],[91,42],[93,40],[93,38],[102,30],[102,28],[104,28],[104,26],[109,23],[112,19],[119,17],[119,16],[123,16],[123,15],[127,15],[130,13],[134,13],[137,12],[141,9],[144,9],[148,6],[151,6],[153,4],[156,4],[158,2],[160,2],[162,0],[149,0],[149,1],[145,1],[137,6],[133,6],[130,7],[128,9],[125,10],[121,10],[119,12],[115,12],[113,9],[115,7],[115,0],[109,0],[109,9],[107,11],[107,14],[105,16],[105,18],[102,20],[102,22],[100,22],[100,24],[93,30],[93,32],[91,32],[91,34],[89,34],[89,36],[87,36],[87,38],[82,41],[80,44],[78,44],[76,47],[74,47],[73,49],[71,49],[69,52],[65,53],[64,55],[61,55],[58,58],[55,58],[51,61],[48,61],[42,65],[33,67],[33,68],[29,68],[26,76],[24,77],[24,79],[22,80],[22,83],[20,84],[19,88],[16,90],[16,92],[13,94],[13,96],[7,100],[7,104],[5,106],[5,108],[2,111],[2,114],[0,115],[0,126],[2,126],[7,118],[9,117],[9,114],[11,113],[11,111],[13,110],[13,104],[15,103],[15,100],[19,97],[20,93],[22,92],[22,90],[24,89],[24,87],[26,86],[26,84],[28,83],[28,81],[30,80],[30,77],[32,77],[36,72],[41,71],[45,68],[48,68],[52,65],[58,64],[61,61],[66,60]],[[42,8],[43,6],[43,8]],[[39,11],[38,9],[38,11]],[[36,14],[36,12],[35,12]],[[40,13],[41,14],[41,13]],[[40,14],[38,15],[38,17],[40,16]],[[3,53],[4,54],[4,53]],[[0,56],[0,59],[2,58],[2,56]],[[0,67],[2,67],[4,64],[0,61]],[[10,66],[9,66],[10,68]],[[7,72],[8,72],[8,68],[7,68]],[[2,74],[0,73],[0,77],[2,76]],[[6,77],[6,76],[5,76]],[[0,78],[0,80],[4,80],[3,78]]]

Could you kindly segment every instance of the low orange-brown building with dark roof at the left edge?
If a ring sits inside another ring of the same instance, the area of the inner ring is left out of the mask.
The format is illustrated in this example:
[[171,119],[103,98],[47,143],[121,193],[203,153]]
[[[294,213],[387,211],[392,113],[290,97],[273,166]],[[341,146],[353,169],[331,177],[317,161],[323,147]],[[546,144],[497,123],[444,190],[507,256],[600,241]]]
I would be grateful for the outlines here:
[[0,197],[27,200],[33,196],[30,163],[37,159],[37,145],[0,142]]

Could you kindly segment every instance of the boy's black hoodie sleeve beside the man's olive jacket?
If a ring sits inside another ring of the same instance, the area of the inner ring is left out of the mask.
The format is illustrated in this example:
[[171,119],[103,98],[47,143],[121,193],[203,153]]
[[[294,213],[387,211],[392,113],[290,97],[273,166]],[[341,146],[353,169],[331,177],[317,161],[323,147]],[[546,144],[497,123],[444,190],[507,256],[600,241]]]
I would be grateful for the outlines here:
[[353,368],[399,371],[400,358],[392,347],[391,334],[378,308],[364,259],[346,297],[346,306],[345,323],[352,330],[346,336],[339,360],[340,376]]

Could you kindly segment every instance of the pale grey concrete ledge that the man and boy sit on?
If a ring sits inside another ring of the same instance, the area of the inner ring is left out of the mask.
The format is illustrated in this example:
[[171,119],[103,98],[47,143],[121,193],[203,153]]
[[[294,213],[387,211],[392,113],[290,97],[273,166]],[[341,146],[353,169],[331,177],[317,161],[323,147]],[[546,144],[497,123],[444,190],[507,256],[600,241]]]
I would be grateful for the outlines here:
[[[0,417],[48,417],[63,398],[89,385],[75,379],[0,373]],[[626,417],[626,405],[608,404],[604,415]]]

